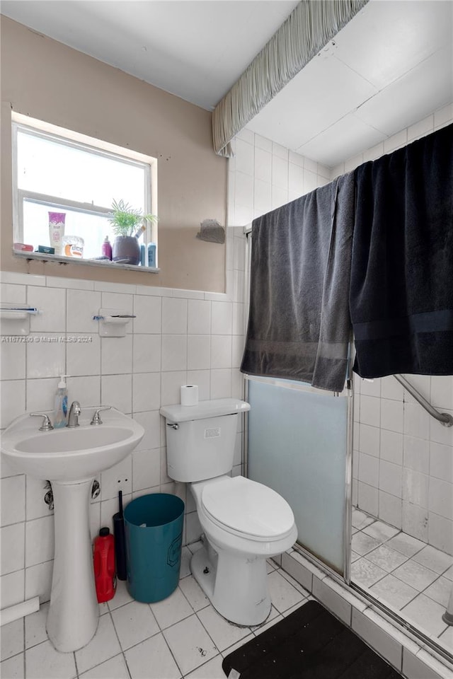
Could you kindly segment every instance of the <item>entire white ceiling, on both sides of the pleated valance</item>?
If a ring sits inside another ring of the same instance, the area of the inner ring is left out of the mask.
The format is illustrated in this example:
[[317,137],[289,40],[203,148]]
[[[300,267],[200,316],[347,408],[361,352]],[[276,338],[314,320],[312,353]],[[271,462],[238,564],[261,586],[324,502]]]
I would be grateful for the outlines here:
[[[294,0],[2,0],[1,13],[212,110]],[[453,1],[370,0],[248,124],[327,166],[453,100]]]

